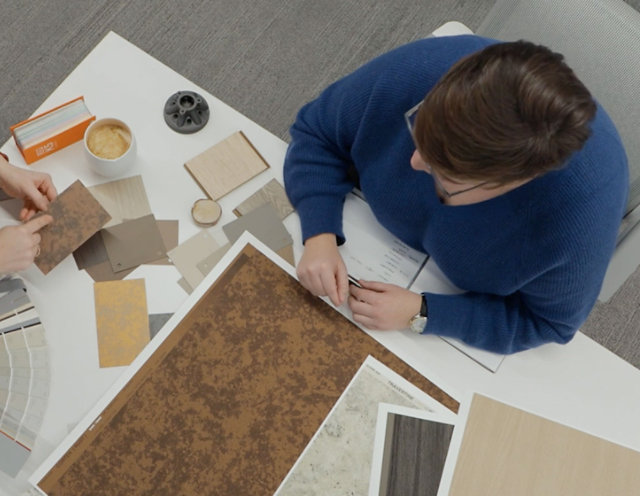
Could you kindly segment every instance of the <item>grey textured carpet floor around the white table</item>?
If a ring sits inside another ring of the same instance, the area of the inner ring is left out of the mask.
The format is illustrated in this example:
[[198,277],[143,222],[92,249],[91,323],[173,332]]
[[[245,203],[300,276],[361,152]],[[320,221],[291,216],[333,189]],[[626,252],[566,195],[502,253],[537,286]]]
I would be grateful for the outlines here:
[[[336,78],[446,21],[474,30],[493,3],[0,0],[0,142],[110,30],[287,140],[298,108]],[[640,271],[583,331],[640,367]]]

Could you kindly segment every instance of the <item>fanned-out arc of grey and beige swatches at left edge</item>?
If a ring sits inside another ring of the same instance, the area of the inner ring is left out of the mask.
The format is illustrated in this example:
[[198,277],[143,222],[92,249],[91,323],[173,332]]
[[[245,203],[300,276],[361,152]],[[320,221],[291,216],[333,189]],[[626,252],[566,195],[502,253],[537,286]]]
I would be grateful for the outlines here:
[[49,397],[44,328],[21,279],[0,280],[0,470],[27,461]]

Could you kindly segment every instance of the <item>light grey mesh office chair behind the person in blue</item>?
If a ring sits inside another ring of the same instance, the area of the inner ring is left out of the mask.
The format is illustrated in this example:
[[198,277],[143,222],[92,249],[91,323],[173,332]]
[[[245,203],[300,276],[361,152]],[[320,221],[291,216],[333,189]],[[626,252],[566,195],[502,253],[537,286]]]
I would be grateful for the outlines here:
[[497,0],[476,33],[562,53],[618,128],[631,187],[600,294],[607,300],[640,263],[640,13],[622,0]]

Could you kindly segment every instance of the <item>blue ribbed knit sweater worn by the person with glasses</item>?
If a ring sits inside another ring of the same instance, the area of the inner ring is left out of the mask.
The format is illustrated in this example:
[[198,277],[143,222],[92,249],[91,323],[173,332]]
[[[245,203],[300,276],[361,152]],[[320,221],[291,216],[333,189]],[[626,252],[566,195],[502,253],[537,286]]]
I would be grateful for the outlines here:
[[430,38],[399,47],[329,86],[291,128],[284,177],[303,239],[343,239],[342,205],[361,189],[378,221],[433,257],[460,295],[427,293],[425,333],[513,353],[566,343],[586,319],[615,246],[628,191],[626,156],[598,108],[592,136],[563,168],[484,202],[442,204],[413,170],[403,114],[459,58],[493,40]]

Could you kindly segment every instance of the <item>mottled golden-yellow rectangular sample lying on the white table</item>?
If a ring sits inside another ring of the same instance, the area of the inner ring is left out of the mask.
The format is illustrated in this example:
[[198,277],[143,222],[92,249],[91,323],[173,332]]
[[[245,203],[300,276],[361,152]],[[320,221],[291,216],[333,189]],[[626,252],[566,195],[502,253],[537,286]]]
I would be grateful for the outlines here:
[[93,285],[100,367],[129,365],[150,340],[144,279]]

